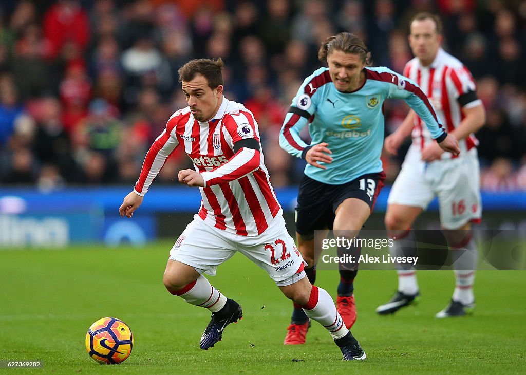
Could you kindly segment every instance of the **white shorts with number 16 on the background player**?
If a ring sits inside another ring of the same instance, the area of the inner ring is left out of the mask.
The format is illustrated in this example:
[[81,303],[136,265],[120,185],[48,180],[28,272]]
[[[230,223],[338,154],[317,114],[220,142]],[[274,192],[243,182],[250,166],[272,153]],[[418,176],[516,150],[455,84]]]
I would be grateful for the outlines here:
[[458,229],[480,221],[480,168],[477,149],[454,159],[424,163],[418,146],[411,145],[387,200],[388,204],[427,209],[438,197],[440,224]]

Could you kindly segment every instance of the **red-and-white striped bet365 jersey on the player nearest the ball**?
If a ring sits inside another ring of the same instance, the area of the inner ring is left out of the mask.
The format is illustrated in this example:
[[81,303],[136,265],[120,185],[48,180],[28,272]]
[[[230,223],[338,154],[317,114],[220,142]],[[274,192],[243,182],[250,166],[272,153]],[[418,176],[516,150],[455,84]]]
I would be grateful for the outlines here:
[[181,145],[205,179],[198,217],[227,232],[259,235],[281,215],[281,206],[261,146],[234,152],[234,144],[247,138],[260,143],[258,124],[242,104],[223,97],[215,117],[206,123],[197,121],[189,107],[180,109],[151,145],[135,191],[144,196],[168,156]]

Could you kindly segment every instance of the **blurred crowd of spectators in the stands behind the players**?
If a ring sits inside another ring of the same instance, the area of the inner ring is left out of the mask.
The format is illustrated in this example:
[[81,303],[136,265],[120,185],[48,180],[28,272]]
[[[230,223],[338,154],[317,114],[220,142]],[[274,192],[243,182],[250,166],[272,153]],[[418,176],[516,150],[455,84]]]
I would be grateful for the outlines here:
[[[304,161],[281,150],[278,133],[321,65],[321,41],[355,33],[373,65],[401,73],[420,11],[441,15],[444,48],[471,70],[487,109],[482,188],[526,190],[526,0],[0,1],[0,186],[133,185],[186,106],[178,68],[200,57],[225,60],[225,95],[254,113],[272,184],[295,185]],[[407,110],[386,102],[386,133]],[[156,184],[190,167],[177,151]],[[389,181],[402,160],[383,157]]]

